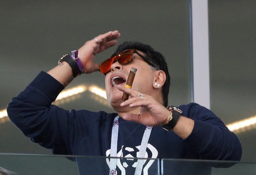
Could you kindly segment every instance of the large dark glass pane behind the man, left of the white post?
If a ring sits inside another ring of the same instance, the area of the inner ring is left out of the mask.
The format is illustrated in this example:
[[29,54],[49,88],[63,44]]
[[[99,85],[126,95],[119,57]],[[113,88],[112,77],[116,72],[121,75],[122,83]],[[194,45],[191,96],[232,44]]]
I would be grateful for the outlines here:
[[[59,58],[87,40],[118,29],[124,41],[140,41],[163,53],[169,65],[169,104],[190,102],[189,22],[187,1],[18,1],[0,6],[0,147],[1,152],[43,153],[50,150],[30,143],[6,117],[6,106],[40,72],[57,65]],[[100,63],[114,48],[97,55]],[[67,87],[82,85],[76,95],[54,104],[67,109],[113,112],[104,95],[104,75],[99,72],[77,77]],[[100,88],[100,89],[99,89]],[[99,94],[99,93],[98,93]],[[102,94],[102,93],[101,93]],[[19,146],[16,146],[19,145]]]

